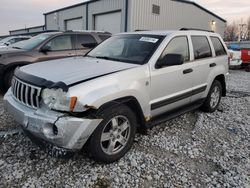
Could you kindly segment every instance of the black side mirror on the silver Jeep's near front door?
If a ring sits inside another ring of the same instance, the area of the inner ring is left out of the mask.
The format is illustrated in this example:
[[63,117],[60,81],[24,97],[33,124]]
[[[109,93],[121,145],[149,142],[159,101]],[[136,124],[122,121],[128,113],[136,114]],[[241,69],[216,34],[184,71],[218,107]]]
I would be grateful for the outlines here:
[[180,54],[167,54],[156,63],[156,68],[182,65],[184,63],[184,57]]

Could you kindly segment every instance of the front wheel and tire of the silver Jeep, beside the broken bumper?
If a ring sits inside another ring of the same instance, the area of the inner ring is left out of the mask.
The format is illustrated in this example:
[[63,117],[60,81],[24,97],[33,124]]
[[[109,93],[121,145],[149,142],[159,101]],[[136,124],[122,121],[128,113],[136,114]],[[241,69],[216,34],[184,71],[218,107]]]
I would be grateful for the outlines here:
[[136,116],[126,105],[106,108],[98,115],[103,121],[92,134],[88,150],[95,161],[112,163],[131,148],[136,133]]

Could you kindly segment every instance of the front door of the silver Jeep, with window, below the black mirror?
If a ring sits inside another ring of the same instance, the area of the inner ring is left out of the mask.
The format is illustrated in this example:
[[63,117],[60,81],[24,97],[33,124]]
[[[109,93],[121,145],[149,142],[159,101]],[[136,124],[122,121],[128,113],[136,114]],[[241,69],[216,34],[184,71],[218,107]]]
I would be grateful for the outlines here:
[[180,54],[184,64],[154,68],[151,71],[151,115],[157,116],[164,112],[189,104],[192,93],[192,65],[187,36],[174,37],[166,46],[161,58],[167,54]]

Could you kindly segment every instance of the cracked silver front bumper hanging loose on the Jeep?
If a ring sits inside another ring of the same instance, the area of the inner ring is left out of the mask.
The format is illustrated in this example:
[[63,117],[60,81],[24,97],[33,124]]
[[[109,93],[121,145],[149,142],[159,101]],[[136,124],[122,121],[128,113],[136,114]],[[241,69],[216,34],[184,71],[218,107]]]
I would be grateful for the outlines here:
[[16,101],[10,90],[4,96],[4,107],[33,141],[46,143],[46,149],[53,150],[49,151],[53,155],[80,150],[102,121],[77,118],[47,108],[27,107]]

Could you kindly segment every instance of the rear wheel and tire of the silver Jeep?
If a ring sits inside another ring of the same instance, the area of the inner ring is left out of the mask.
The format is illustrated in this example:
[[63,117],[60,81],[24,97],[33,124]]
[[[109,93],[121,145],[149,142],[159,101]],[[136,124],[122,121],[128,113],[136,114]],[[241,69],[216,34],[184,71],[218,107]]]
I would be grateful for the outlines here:
[[210,91],[201,109],[205,112],[214,112],[217,110],[222,96],[222,86],[218,80],[214,80]]

